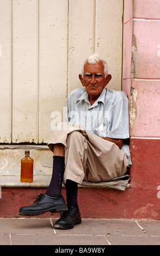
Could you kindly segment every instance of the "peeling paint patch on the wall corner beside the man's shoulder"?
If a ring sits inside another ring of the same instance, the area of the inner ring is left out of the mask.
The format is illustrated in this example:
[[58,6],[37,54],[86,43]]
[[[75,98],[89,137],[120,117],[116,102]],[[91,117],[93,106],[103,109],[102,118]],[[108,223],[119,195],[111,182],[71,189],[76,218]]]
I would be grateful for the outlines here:
[[137,117],[137,106],[136,106],[137,96],[138,96],[138,90],[136,88],[131,87],[131,96],[130,96],[130,126],[131,126],[131,128],[133,127],[134,121],[136,120],[136,117]]

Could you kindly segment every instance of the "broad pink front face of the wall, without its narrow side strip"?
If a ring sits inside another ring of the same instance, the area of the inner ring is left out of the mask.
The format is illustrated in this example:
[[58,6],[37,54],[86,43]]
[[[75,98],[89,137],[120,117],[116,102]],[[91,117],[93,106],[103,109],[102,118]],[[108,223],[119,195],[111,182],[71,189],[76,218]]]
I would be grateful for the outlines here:
[[135,0],[133,53],[137,117],[131,136],[160,137],[160,1]]

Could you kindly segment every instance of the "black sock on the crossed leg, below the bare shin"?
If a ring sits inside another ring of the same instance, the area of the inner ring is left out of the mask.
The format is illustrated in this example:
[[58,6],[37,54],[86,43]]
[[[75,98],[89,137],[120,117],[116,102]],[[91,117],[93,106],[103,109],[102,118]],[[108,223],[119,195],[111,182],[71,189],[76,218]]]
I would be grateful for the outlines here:
[[53,156],[53,172],[50,185],[48,186],[46,191],[47,196],[61,196],[61,186],[63,182],[64,167],[65,158],[63,156]]

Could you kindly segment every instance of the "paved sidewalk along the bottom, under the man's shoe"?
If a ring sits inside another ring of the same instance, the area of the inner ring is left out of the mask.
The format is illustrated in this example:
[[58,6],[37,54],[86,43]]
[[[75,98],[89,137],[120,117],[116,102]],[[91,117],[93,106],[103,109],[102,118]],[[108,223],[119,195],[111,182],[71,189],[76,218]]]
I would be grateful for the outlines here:
[[54,229],[55,221],[0,218],[0,245],[160,245],[160,221],[83,219],[69,230]]

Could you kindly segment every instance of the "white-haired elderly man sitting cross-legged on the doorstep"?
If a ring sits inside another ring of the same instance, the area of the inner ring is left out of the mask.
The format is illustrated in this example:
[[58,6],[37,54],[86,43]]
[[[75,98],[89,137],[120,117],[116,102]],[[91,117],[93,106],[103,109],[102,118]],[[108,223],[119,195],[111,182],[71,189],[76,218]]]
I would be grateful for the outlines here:
[[[124,92],[107,89],[112,76],[97,54],[82,66],[79,80],[84,88],[67,99],[67,122],[60,123],[48,147],[53,151],[53,173],[45,194],[20,208],[20,215],[34,216],[63,211],[54,228],[70,229],[81,223],[77,186],[83,180],[110,181],[126,173],[130,151],[128,99]],[[66,187],[66,202],[61,186]]]

